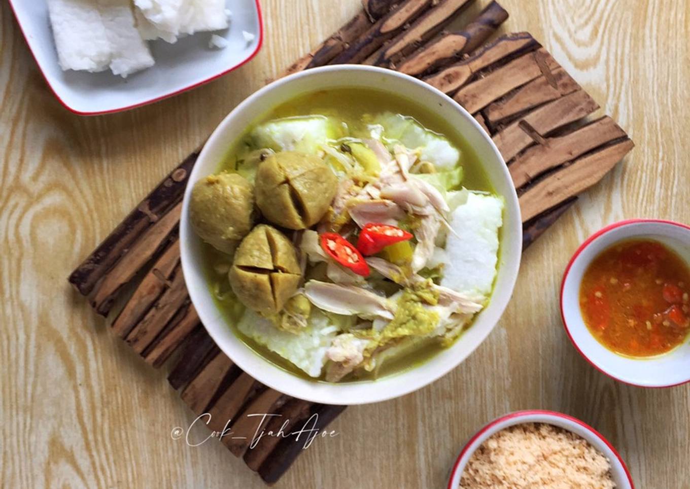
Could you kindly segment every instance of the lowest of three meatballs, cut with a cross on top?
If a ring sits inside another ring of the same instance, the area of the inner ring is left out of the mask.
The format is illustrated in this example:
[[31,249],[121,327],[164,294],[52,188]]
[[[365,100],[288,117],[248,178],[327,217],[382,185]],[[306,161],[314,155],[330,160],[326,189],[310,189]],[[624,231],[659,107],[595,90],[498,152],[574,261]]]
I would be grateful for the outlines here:
[[259,224],[239,244],[228,278],[237,299],[270,317],[297,292],[302,272],[285,234]]

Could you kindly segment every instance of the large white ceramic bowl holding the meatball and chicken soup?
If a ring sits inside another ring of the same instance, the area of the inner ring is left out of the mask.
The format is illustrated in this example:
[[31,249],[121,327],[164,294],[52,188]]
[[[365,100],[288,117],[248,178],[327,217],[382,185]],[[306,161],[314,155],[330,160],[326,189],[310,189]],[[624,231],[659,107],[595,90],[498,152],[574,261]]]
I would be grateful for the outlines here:
[[491,302],[451,348],[442,350],[420,366],[375,381],[326,383],[302,379],[278,368],[242,343],[215,306],[201,268],[201,243],[188,219],[192,185],[188,186],[184,196],[180,242],[184,277],[199,317],[208,334],[237,366],[267,386],[293,397],[320,403],[359,404],[391,399],[426,386],[459,365],[484,341],[501,317],[513,292],[520,266],[522,225],[517,195],[506,165],[475,119],[455,101],[426,83],[371,66],[329,66],[308,70],[279,79],[248,97],[230,112],[208,139],[190,175],[190,182],[217,171],[230,144],[257,117],[302,94],[341,87],[386,90],[433,108],[440,117],[457,128],[475,149],[496,192],[505,198],[499,268]]

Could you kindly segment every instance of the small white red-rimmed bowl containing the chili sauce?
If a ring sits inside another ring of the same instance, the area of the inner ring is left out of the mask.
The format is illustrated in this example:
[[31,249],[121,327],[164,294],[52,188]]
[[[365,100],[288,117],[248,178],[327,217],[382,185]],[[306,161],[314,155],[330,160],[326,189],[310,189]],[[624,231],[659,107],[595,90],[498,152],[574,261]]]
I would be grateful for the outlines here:
[[660,241],[690,263],[690,226],[658,219],[611,224],[584,241],[565,270],[560,292],[563,326],[580,355],[613,379],[638,387],[678,386],[690,381],[690,340],[665,355],[633,359],[602,346],[582,319],[580,283],[589,264],[614,243],[635,238]]

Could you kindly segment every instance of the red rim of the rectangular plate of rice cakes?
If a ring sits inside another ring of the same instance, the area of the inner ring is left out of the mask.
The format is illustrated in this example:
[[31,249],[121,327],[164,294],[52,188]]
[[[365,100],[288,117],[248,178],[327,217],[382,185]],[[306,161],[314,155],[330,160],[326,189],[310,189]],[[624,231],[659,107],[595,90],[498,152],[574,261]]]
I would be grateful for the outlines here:
[[197,83],[192,83],[189,86],[186,86],[184,88],[179,88],[178,90],[173,90],[172,92],[160,94],[157,97],[152,97],[151,99],[137,102],[137,103],[132,103],[129,106],[123,106],[123,107],[117,107],[117,108],[112,108],[108,110],[95,110],[95,111],[82,111],[82,110],[77,110],[70,106],[64,99],[60,96],[58,93],[58,90],[53,86],[53,84],[50,82],[50,77],[48,77],[48,74],[46,74],[46,71],[43,69],[43,65],[39,63],[39,59],[36,55],[36,52],[34,51],[34,47],[32,46],[32,43],[29,41],[29,37],[27,36],[25,32],[25,28],[23,26],[23,23],[19,20],[19,16],[17,15],[17,10],[14,8],[14,4],[12,3],[14,0],[8,0],[10,3],[10,10],[12,10],[12,14],[14,15],[14,19],[17,21],[17,25],[19,26],[19,32],[21,32],[22,37],[24,38],[24,41],[26,42],[26,45],[29,48],[29,52],[31,53],[31,57],[34,59],[34,63],[36,63],[36,66],[38,66],[39,71],[41,72],[41,76],[43,77],[43,80],[46,81],[46,85],[48,85],[48,88],[50,88],[50,91],[52,94],[55,96],[55,98],[59,101],[60,105],[63,106],[63,108],[66,108],[68,111],[72,112],[72,114],[80,115],[80,116],[97,116],[97,115],[107,115],[107,114],[115,114],[117,112],[126,112],[128,110],[136,109],[139,107],[144,107],[148,106],[152,103],[157,103],[159,101],[163,101],[165,99],[170,99],[172,97],[177,97],[177,95],[188,92],[189,90],[194,90],[195,88],[199,88],[202,85],[206,85],[206,83],[210,83],[211,81],[214,81],[216,79],[219,79],[220,77],[224,77],[226,74],[229,72],[237,70],[237,68],[241,68],[242,66],[246,65],[249,61],[254,59],[257,54],[259,54],[259,51],[261,50],[262,46],[264,45],[264,15],[262,12],[262,6],[261,6],[261,0],[253,0],[256,3],[256,8],[257,8],[257,21],[259,23],[259,39],[257,41],[257,47],[256,49],[248,55],[245,59],[240,61],[239,63],[235,64],[234,66],[231,66],[230,68],[227,68],[226,70],[222,70],[219,73],[213,74],[212,76],[208,77],[207,79],[198,81]]

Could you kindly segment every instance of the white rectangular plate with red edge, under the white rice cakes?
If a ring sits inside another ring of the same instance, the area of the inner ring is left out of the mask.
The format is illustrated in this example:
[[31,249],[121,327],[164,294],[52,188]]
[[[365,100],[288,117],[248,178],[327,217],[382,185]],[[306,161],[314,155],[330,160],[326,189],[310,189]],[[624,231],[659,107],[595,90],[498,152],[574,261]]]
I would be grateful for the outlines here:
[[[228,0],[233,12],[230,28],[199,32],[175,44],[150,43],[155,66],[126,79],[110,71],[100,73],[63,72],[52,39],[45,0],[10,0],[26,42],[55,96],[63,106],[80,115],[119,112],[172,97],[196,88],[242,66],[262,46],[264,31],[259,0]],[[251,42],[242,31],[254,34]],[[212,34],[228,40],[224,49],[208,47]]]

